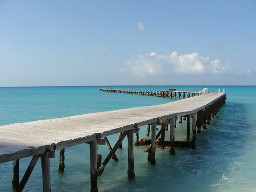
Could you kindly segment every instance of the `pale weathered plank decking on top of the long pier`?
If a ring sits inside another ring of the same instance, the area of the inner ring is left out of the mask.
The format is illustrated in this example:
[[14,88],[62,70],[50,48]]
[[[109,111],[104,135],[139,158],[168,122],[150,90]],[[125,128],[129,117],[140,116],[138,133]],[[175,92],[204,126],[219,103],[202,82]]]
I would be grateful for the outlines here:
[[224,94],[208,93],[162,105],[0,126],[0,163],[89,142],[150,123],[195,113]]

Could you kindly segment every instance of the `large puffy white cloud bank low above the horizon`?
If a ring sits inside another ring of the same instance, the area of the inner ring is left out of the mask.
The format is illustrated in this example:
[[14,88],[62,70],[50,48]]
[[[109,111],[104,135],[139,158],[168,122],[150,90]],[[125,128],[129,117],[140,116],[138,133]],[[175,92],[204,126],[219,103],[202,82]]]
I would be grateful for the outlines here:
[[172,52],[169,56],[151,52],[139,55],[136,59],[128,61],[127,65],[133,73],[140,76],[163,73],[220,74],[231,70],[229,63],[224,65],[219,59],[210,61],[209,57],[200,56],[197,52],[185,55]]

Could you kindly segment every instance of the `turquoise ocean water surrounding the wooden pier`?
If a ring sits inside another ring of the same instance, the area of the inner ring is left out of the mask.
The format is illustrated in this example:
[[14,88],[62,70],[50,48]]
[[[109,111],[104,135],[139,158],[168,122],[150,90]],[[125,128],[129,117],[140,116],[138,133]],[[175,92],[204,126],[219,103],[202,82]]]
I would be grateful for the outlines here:
[[[105,87],[0,87],[0,125],[73,116],[173,102],[175,99],[100,92]],[[117,87],[109,87],[117,88]],[[119,86],[127,90],[202,90],[201,86]],[[119,162],[110,160],[98,177],[100,192],[256,192],[256,87],[209,86],[209,91],[225,88],[226,105],[207,130],[197,134],[196,150],[169,148],[156,150],[156,165],[147,162],[146,146],[134,147],[135,179],[127,179],[127,140],[116,151]],[[177,100],[177,99],[176,99]],[[168,140],[166,134],[166,140]],[[145,127],[140,128],[145,137]],[[111,145],[118,136],[108,137]],[[186,120],[177,123],[176,140],[186,140]],[[108,155],[98,146],[102,161]],[[58,173],[58,153],[51,159],[52,192],[90,191],[89,145],[66,148],[65,172]],[[198,158],[198,157],[201,158]],[[20,160],[20,180],[31,160]],[[12,162],[0,164],[0,191],[12,192]],[[41,192],[41,163],[35,166],[25,192]]]

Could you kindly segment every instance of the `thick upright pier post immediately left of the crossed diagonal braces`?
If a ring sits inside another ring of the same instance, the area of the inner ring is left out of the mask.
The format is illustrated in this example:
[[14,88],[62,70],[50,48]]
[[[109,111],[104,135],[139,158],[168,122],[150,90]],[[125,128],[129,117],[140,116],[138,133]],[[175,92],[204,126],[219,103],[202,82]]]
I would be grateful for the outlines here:
[[90,192],[98,192],[97,140],[90,141]]

